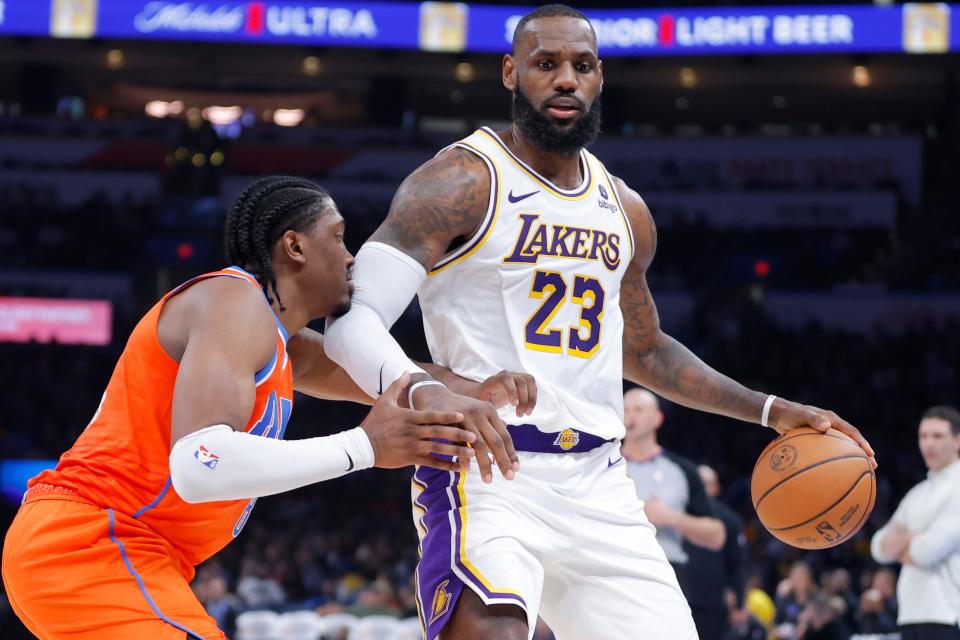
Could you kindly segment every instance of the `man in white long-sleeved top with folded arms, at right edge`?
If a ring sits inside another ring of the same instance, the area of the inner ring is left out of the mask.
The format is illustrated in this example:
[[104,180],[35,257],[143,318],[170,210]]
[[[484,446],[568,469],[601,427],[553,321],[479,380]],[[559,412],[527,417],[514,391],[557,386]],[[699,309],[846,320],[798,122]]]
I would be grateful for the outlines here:
[[927,479],[873,537],[877,562],[903,565],[897,624],[903,640],[960,639],[960,412],[931,407],[920,420]]

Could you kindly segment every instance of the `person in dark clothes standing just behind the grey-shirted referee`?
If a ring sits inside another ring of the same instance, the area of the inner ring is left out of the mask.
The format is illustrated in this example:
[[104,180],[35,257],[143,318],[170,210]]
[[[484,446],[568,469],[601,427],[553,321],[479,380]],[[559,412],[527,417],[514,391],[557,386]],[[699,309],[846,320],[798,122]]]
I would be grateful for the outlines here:
[[687,545],[690,561],[684,595],[693,610],[700,637],[721,638],[728,628],[730,610],[743,608],[747,541],[740,516],[718,499],[717,472],[706,465],[697,467],[697,472],[711,511],[723,522],[726,540],[720,551]]

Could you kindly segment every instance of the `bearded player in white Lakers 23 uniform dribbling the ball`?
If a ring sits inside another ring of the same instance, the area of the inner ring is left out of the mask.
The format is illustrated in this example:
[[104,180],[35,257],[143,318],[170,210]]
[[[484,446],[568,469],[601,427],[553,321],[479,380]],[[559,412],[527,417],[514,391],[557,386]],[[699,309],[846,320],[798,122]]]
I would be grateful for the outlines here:
[[[328,354],[367,393],[412,371],[417,409],[462,406],[388,334],[417,293],[437,364],[536,379],[532,412],[506,407],[478,433],[476,466],[414,475],[424,634],[522,640],[539,614],[559,640],[696,638],[620,456],[622,378],[779,432],[833,426],[873,451],[835,413],[747,389],[661,331],[645,278],[653,219],[585,149],[603,67],[582,14],[548,5],[520,20],[503,84],[512,126],[407,178],[357,255],[350,312],[327,327]],[[521,407],[529,391],[518,385]],[[488,451],[508,481],[493,482]]]

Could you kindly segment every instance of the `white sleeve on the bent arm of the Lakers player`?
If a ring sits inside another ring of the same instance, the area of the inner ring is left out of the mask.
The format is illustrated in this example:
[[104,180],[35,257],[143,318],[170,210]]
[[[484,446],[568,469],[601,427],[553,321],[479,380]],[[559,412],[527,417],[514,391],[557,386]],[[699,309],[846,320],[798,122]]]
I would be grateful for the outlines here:
[[407,308],[427,272],[416,260],[380,242],[368,242],[353,265],[350,311],[327,318],[323,348],[367,395],[377,398],[394,380],[426,373],[406,356],[390,327]]

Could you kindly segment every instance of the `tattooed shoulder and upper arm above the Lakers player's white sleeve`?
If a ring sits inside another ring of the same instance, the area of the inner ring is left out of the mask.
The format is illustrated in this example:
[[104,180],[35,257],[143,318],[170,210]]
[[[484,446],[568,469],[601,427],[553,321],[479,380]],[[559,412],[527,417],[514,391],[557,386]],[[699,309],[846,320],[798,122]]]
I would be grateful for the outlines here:
[[371,241],[392,245],[427,270],[483,223],[490,174],[475,154],[452,148],[414,171]]

